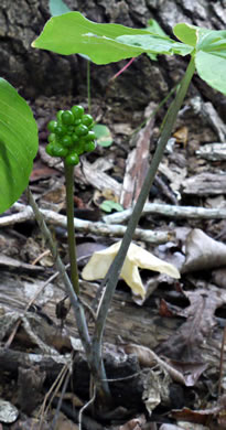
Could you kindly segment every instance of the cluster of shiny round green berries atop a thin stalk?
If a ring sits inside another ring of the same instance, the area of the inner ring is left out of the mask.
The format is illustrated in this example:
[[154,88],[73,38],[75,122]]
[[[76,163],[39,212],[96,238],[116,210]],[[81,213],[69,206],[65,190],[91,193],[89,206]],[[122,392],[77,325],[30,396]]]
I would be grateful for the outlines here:
[[84,114],[83,106],[58,110],[56,120],[47,123],[50,135],[45,148],[49,155],[61,157],[67,165],[79,163],[79,155],[95,149],[94,119]]

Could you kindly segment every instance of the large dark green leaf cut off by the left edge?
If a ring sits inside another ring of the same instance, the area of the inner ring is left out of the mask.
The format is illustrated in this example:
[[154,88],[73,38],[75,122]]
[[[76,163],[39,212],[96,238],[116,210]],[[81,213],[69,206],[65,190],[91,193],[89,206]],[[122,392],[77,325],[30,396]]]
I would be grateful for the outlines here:
[[18,92],[0,78],[0,213],[25,190],[37,151],[33,114]]

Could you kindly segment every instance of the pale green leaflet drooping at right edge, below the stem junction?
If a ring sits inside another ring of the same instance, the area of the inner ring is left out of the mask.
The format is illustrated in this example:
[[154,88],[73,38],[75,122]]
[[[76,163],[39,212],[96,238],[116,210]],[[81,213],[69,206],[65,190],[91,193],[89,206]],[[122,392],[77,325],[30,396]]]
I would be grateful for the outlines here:
[[224,57],[198,51],[195,55],[195,66],[203,80],[226,95],[226,60]]

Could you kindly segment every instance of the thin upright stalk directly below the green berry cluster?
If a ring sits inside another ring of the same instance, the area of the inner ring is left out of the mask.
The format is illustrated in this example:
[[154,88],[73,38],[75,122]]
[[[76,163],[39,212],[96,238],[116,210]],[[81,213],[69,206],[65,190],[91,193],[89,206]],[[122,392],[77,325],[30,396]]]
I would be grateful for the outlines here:
[[74,227],[74,165],[67,165],[66,163],[64,163],[64,173],[66,180],[67,244],[69,252],[71,279],[76,294],[79,295]]

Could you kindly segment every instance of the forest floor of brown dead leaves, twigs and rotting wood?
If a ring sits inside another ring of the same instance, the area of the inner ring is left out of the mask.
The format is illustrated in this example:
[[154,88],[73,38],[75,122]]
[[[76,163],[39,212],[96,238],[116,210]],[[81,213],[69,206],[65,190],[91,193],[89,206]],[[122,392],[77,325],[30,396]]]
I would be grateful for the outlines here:
[[[40,149],[30,187],[65,264],[63,169],[44,147],[47,121],[76,103],[40,97],[32,104]],[[147,122],[136,131],[143,112],[93,100],[92,114],[109,127],[112,143],[97,146],[75,169],[77,259],[82,298],[89,304],[99,280],[87,282],[82,270],[93,252],[123,234],[158,143],[162,114],[153,115],[155,108],[150,103]],[[57,303],[68,307],[64,286],[53,277],[53,258],[25,195],[2,214],[0,430],[226,428],[225,142],[226,126],[214,107],[187,99],[134,236],[141,248],[174,265],[181,278],[140,270],[143,298],[118,282],[104,338],[115,407],[103,415],[84,409],[79,423],[92,383],[72,309],[56,318]],[[122,211],[106,213],[105,201]]]

